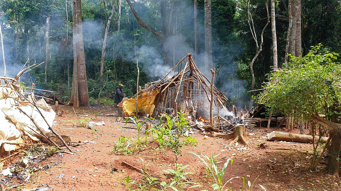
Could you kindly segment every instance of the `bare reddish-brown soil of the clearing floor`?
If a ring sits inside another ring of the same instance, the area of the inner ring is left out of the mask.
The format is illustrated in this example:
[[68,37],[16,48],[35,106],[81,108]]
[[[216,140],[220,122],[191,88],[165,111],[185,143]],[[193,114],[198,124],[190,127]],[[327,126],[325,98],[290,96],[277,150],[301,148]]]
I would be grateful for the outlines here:
[[[23,179],[15,176],[5,178],[1,175],[6,190],[39,190],[40,188],[40,190],[61,191],[123,191],[127,189],[119,180],[123,180],[128,175],[131,180],[137,182],[143,178],[140,171],[125,163],[143,168],[143,164],[149,161],[151,162],[146,168],[147,173],[158,178],[159,181],[169,183],[172,177],[162,170],[175,168],[175,155],[171,150],[160,154],[152,149],[157,147],[157,143],[151,142],[146,150],[134,155],[115,155],[112,152],[115,142],[122,134],[126,137],[137,134],[136,129],[129,128],[135,128],[132,123],[126,125],[125,121],[119,120],[119,117],[98,115],[117,114],[116,107],[76,109],[79,118],[88,117],[90,121],[105,122],[104,125],[93,126],[93,129],[97,131],[78,127],[78,120],[72,107],[60,105],[59,109],[63,109],[66,116],[56,116],[56,125],[53,128],[59,134],[70,135],[73,142],[79,142],[83,145],[71,147],[75,155],[58,152],[39,163],[31,165],[30,168],[35,167],[41,170],[32,172],[28,182],[24,182]],[[281,129],[271,128],[271,131],[273,130],[282,131]],[[308,130],[306,131],[308,133]],[[228,158],[232,158],[233,164],[231,167],[227,167],[223,176],[223,183],[232,177],[245,177],[245,186],[248,189],[247,181],[250,180],[251,183],[255,181],[254,191],[262,190],[258,186],[259,184],[263,185],[268,191],[340,190],[340,182],[334,182],[332,177],[324,171],[326,161],[323,161],[324,164],[320,164],[315,171],[309,170],[312,157],[311,144],[268,142],[265,138],[266,133],[265,127],[259,128],[258,126],[254,129],[254,138],[248,141],[247,147],[244,147],[240,142],[229,145],[231,140],[206,138],[202,133],[195,131],[193,136],[199,141],[196,147],[182,147],[182,155],[178,157],[178,163],[189,165],[184,171],[194,173],[188,175],[189,181],[198,182],[202,185],[202,187],[189,190],[212,190],[212,182],[205,177],[203,163],[188,151],[207,156],[211,156],[211,153],[213,155],[219,154],[216,158],[217,161],[222,161],[218,163],[219,166],[222,166]],[[299,133],[299,130],[295,129],[293,133]],[[21,155],[23,153],[11,157],[11,162],[22,160]],[[226,185],[232,190],[240,190],[242,186],[242,178],[235,178]],[[161,189],[161,187],[157,188]]]

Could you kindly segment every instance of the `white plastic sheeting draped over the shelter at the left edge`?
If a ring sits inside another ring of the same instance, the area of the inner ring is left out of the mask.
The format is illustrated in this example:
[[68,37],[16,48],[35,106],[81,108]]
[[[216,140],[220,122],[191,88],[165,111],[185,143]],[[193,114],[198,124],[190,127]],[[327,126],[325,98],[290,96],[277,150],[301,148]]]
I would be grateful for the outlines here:
[[[21,138],[23,134],[28,135],[35,141],[42,138],[40,130],[28,116],[19,111],[18,107],[31,116],[41,130],[45,133],[50,132],[37,108],[29,102],[20,101],[19,97],[12,88],[0,87],[0,153],[19,148],[20,143],[24,143]],[[52,126],[56,116],[53,109],[46,104],[44,99],[36,102],[36,105],[49,125]]]

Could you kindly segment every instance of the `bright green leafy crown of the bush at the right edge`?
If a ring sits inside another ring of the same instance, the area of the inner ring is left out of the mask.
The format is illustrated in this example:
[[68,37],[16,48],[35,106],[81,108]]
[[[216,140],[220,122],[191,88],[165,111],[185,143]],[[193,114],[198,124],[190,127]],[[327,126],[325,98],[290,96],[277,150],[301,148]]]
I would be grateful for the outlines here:
[[304,121],[314,114],[329,114],[333,104],[332,89],[340,99],[341,67],[336,63],[337,53],[323,50],[322,45],[312,47],[304,57],[291,56],[292,62],[281,72],[269,75],[266,91],[257,97],[258,103],[267,104],[273,112],[288,114]]

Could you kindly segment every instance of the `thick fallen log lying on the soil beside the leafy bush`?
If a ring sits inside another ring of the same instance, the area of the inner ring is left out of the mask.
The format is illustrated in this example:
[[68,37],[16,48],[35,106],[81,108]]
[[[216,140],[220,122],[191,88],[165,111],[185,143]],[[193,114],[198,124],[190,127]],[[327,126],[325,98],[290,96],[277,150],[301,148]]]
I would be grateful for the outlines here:
[[[272,131],[267,134],[267,141],[288,141],[295,143],[312,143],[313,136],[311,135],[302,135],[302,134],[293,134],[293,133],[284,133],[279,131]],[[318,136],[315,136],[315,141],[318,140]],[[328,137],[321,137],[321,143],[326,143]]]

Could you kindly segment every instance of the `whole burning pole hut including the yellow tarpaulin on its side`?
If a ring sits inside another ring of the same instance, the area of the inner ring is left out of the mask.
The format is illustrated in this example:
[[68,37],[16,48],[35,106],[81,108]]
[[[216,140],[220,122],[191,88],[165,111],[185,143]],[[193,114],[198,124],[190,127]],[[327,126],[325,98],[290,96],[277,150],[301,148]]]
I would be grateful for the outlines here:
[[[173,72],[176,74],[170,77]],[[187,53],[163,79],[146,84],[145,89],[139,91],[135,97],[124,101],[123,112],[125,116],[132,116],[136,115],[137,110],[137,113],[158,117],[163,112],[176,115],[183,111],[188,119],[200,116],[208,119],[211,92],[212,102],[218,110],[226,111],[225,101],[228,100],[211,83],[195,65],[192,54]]]

